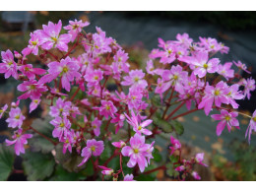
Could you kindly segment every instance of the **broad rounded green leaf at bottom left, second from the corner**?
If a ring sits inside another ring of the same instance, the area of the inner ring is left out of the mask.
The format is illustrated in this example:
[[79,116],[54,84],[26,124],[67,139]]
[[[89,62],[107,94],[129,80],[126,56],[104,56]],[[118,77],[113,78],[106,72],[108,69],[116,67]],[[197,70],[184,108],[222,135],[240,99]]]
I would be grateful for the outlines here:
[[24,170],[28,180],[43,180],[54,170],[55,161],[51,154],[27,153],[24,156]]

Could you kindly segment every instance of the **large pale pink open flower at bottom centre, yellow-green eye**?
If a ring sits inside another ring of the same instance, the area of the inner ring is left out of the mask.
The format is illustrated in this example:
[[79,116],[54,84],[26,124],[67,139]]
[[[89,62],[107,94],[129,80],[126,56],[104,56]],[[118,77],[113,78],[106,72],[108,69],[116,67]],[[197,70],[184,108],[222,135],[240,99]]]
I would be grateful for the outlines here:
[[135,134],[130,139],[130,146],[125,146],[121,153],[125,157],[129,157],[130,160],[127,163],[128,167],[134,167],[137,163],[141,172],[148,166],[146,158],[152,156],[148,151],[151,146],[145,144],[145,137]]

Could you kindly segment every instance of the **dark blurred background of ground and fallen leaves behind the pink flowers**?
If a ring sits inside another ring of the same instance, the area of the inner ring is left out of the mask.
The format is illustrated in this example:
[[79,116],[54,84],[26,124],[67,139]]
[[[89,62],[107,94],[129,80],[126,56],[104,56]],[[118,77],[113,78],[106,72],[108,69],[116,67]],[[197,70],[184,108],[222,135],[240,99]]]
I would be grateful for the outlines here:
[[[158,47],[158,37],[173,40],[177,33],[187,32],[195,41],[199,36],[215,37],[230,48],[227,55],[218,55],[221,61],[245,63],[256,79],[256,13],[255,12],[0,12],[0,50],[21,51],[27,46],[30,32],[41,29],[48,21],[89,21],[86,32],[96,32],[96,27],[112,36],[129,53],[130,62],[144,68],[148,54]],[[36,64],[37,60],[32,60]],[[246,74],[241,74],[248,77]],[[17,96],[19,83],[12,78],[5,80],[0,75],[0,106],[10,103]],[[24,103],[25,107],[29,103]],[[240,110],[252,113],[256,109],[256,95],[239,102]],[[26,109],[25,109],[26,110]],[[41,108],[30,114],[38,117]],[[181,108],[180,113],[186,111]],[[199,168],[203,180],[256,180],[256,136],[252,135],[248,146],[244,135],[248,118],[239,117],[240,130],[225,129],[221,137],[216,135],[216,125],[203,111],[178,119],[185,132],[179,138],[183,143],[184,158],[205,152],[209,168]],[[10,136],[5,119],[0,119],[0,143]],[[157,148],[167,156],[169,136],[157,138]],[[22,159],[15,160],[16,169],[22,169]],[[163,171],[159,180],[168,180]],[[21,173],[13,173],[9,180],[26,180]]]

